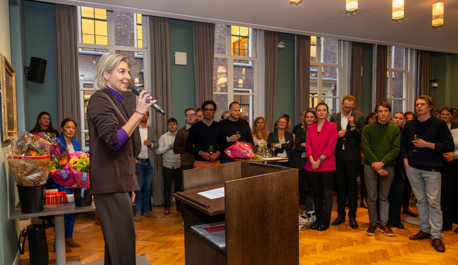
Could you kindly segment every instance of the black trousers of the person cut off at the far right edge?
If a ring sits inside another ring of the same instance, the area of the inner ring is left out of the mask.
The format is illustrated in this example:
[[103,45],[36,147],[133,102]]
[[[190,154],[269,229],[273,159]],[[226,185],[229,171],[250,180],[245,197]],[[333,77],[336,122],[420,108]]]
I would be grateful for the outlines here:
[[441,209],[443,227],[452,229],[458,214],[458,160],[444,162],[442,170]]

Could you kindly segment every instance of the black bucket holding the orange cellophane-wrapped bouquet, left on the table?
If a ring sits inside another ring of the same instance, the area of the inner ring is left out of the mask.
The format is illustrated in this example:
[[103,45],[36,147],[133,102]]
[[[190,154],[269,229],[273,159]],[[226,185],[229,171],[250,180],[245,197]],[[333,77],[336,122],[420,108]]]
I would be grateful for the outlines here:
[[21,201],[22,213],[36,213],[44,209],[44,189],[46,182],[41,185],[21,186],[16,185]]

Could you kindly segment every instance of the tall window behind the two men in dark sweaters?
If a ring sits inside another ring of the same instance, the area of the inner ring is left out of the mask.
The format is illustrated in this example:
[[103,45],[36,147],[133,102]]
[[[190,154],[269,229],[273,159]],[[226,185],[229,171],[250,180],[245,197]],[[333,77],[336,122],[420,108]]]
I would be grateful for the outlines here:
[[215,25],[213,99],[218,121],[233,101],[240,103],[241,119],[250,124],[254,120],[257,59],[252,55],[252,32],[248,27]]

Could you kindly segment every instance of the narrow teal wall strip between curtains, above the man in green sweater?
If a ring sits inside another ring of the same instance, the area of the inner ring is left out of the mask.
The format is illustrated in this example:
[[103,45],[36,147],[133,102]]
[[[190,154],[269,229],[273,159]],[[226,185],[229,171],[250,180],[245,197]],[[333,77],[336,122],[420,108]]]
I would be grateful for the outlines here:
[[373,44],[363,43],[363,76],[361,76],[360,110],[368,114],[372,109],[372,60]]

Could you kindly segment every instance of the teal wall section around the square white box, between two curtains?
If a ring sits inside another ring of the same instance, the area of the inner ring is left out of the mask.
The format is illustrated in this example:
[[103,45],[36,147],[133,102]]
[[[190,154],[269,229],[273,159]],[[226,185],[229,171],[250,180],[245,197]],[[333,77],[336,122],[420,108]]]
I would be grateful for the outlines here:
[[[194,48],[192,22],[170,19],[170,102],[171,117],[178,120],[178,128],[185,125],[185,109],[196,108],[196,79],[194,76]],[[175,52],[186,53],[187,65],[175,65]]]

